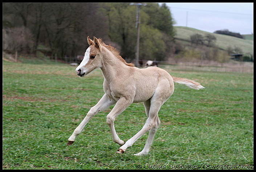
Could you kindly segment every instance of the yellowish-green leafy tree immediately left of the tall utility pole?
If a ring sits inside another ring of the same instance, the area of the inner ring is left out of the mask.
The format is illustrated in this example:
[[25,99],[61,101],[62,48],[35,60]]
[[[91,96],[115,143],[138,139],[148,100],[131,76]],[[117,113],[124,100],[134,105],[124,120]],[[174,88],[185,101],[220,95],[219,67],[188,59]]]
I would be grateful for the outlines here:
[[108,34],[111,41],[121,46],[123,58],[134,59],[137,35],[136,7],[129,3],[104,3],[102,8],[108,18]]

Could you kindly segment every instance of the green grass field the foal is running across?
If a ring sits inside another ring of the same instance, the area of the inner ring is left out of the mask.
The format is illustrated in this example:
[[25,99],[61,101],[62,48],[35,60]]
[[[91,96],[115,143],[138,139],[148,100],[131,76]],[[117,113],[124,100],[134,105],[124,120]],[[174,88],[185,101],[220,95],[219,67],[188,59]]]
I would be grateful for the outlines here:
[[[134,156],[143,135],[124,154],[106,115],[93,117],[72,146],[69,136],[103,95],[99,69],[81,78],[74,66],[3,60],[3,169],[247,169],[253,168],[253,74],[168,71],[199,81],[203,90],[175,83],[159,111],[161,125],[149,155]],[[142,103],[115,120],[128,140],[144,125]]]

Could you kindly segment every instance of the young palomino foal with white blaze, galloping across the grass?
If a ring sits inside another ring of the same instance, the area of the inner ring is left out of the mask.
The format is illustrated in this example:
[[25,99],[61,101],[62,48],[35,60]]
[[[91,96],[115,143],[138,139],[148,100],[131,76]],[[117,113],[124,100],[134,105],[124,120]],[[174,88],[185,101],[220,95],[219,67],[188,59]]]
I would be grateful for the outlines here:
[[[185,84],[193,89],[204,87],[192,80],[173,77],[158,67],[134,67],[134,64],[126,63],[113,47],[105,45],[101,39],[96,37],[93,37],[93,40],[88,37],[87,41],[89,47],[81,64],[76,68],[77,75],[83,77],[95,68],[101,68],[105,78],[103,82],[105,94],[89,110],[85,118],[74,130],[68,139],[68,145],[75,141],[75,138],[81,133],[90,118],[115,104],[114,108],[107,115],[106,122],[110,127],[113,141],[121,145],[117,153],[124,153],[128,147],[132,146],[136,140],[149,131],[145,147],[138,154],[134,154],[147,155],[157,128],[160,125],[158,111],[174,92],[174,82]],[[133,102],[143,102],[147,120],[137,134],[124,142],[115,132],[114,121]]]

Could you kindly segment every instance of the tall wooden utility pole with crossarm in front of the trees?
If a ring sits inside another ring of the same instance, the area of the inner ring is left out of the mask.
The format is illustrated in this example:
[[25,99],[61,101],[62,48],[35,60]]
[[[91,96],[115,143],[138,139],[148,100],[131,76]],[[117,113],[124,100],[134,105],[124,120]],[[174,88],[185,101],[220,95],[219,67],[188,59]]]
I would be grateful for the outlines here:
[[139,12],[141,10],[141,5],[146,6],[147,4],[142,3],[130,3],[130,5],[137,5],[137,16],[136,16],[136,28],[137,28],[137,46],[136,46],[136,58],[135,58],[135,66],[139,66]]

